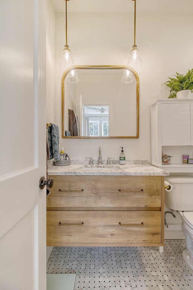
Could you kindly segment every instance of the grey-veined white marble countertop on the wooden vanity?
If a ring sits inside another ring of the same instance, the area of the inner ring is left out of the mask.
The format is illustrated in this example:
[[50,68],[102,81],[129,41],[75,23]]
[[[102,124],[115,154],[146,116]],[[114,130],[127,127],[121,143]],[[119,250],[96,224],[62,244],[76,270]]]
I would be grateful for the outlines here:
[[[148,160],[126,160],[125,164],[119,164],[119,160],[112,160],[111,165],[98,165],[95,160],[93,165],[88,160],[71,160],[68,166],[51,166],[49,175],[147,175],[168,176],[169,172],[148,164]],[[79,162],[79,163],[78,163]]]

